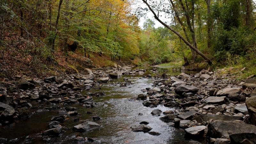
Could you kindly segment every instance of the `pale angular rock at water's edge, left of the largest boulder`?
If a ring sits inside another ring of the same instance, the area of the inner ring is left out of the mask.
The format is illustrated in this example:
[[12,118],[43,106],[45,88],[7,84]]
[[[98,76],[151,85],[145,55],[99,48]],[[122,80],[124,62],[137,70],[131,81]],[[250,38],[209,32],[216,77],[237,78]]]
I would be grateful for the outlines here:
[[192,126],[187,129],[185,129],[186,133],[191,136],[202,136],[207,134],[208,129],[207,126],[204,125],[198,125],[198,126]]

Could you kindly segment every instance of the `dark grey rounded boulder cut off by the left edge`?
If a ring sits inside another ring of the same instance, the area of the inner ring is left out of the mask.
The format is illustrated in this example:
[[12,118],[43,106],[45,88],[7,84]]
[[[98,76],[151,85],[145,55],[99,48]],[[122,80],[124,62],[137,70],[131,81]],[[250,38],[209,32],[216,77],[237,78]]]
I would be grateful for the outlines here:
[[0,119],[12,118],[15,114],[15,109],[5,103],[0,102],[0,111],[3,111],[0,115]]

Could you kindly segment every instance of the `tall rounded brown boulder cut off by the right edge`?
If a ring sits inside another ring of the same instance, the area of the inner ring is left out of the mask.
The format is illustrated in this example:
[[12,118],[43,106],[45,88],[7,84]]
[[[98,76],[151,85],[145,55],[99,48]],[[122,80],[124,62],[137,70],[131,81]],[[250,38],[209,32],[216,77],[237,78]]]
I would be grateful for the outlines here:
[[252,96],[245,101],[252,124],[256,125],[256,96]]

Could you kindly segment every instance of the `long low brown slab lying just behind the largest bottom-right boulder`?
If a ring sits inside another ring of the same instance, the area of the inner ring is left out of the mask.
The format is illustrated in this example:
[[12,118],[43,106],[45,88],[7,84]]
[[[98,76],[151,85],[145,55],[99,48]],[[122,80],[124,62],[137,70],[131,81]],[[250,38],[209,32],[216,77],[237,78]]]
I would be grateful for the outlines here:
[[216,121],[235,121],[235,120],[244,120],[242,116],[228,116],[228,115],[207,115],[207,114],[202,114],[199,116],[196,116],[192,118],[192,120],[196,120],[198,123],[203,123],[206,121],[209,121],[210,119],[216,120]]

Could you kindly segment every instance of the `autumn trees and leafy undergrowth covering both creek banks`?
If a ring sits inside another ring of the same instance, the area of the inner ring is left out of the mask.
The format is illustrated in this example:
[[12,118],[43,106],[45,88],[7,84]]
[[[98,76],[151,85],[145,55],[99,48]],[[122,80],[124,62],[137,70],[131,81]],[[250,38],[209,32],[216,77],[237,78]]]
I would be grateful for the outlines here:
[[[144,8],[134,12],[136,3]],[[140,28],[148,12],[155,18]],[[122,63],[256,72],[252,0],[5,0],[0,13],[1,78]]]

